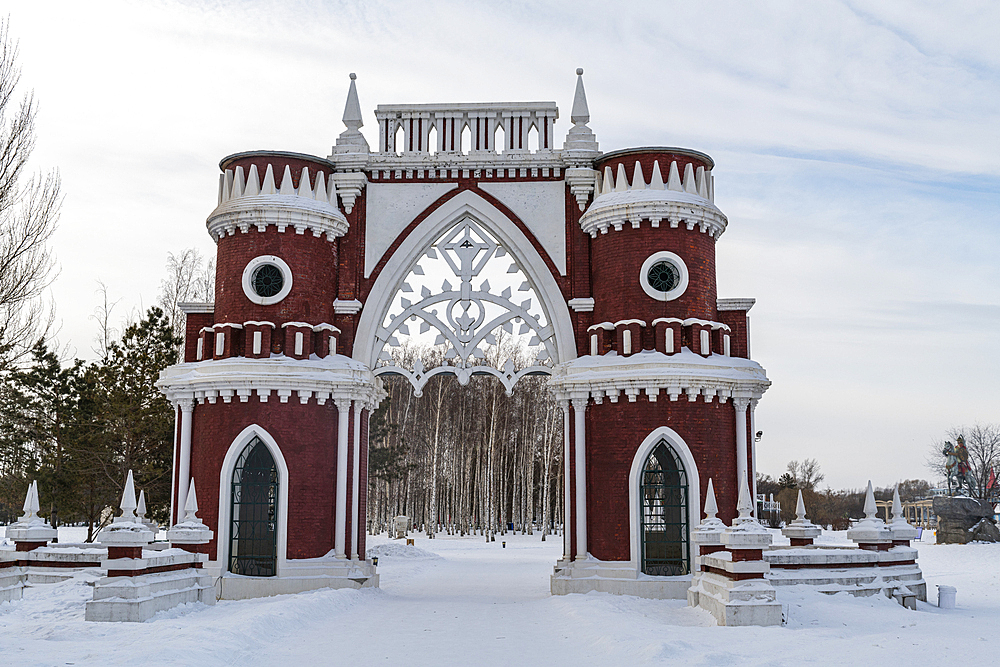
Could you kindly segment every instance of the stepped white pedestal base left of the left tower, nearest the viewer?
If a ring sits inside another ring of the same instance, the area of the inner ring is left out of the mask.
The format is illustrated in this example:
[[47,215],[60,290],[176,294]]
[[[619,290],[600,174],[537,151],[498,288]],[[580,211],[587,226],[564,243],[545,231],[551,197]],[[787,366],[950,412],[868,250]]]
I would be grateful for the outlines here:
[[154,614],[187,602],[215,604],[212,577],[188,569],[137,577],[105,577],[94,586],[87,602],[88,621],[141,623]]

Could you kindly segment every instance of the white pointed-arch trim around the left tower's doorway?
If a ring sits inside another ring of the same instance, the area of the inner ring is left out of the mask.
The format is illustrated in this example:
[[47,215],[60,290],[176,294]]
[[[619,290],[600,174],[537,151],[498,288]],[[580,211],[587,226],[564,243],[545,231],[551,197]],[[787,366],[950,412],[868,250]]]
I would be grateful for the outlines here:
[[254,436],[259,437],[261,442],[267,446],[268,451],[271,452],[271,456],[274,458],[274,464],[278,468],[278,558],[275,565],[276,576],[280,577],[285,567],[285,555],[288,549],[288,465],[285,463],[285,457],[281,453],[281,448],[278,447],[278,443],[271,437],[271,434],[262,426],[251,424],[240,431],[240,434],[229,445],[229,450],[222,460],[222,469],[219,472],[219,524],[215,534],[218,537],[216,540],[216,559],[222,566],[223,576],[229,572],[229,498],[232,493],[233,470],[236,467],[236,460],[239,458],[243,448],[253,440]]

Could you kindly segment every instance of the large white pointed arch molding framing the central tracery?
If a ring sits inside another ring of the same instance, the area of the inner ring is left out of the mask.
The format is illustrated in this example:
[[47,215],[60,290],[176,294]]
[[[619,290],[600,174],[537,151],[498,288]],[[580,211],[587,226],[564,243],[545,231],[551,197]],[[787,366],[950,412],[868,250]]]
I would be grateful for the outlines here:
[[552,272],[517,225],[485,199],[465,190],[432,211],[389,257],[361,311],[355,335],[354,359],[368,368],[374,366],[376,333],[414,258],[466,216],[495,235],[524,270],[553,330],[558,355],[553,361],[559,363],[576,358],[569,307]]

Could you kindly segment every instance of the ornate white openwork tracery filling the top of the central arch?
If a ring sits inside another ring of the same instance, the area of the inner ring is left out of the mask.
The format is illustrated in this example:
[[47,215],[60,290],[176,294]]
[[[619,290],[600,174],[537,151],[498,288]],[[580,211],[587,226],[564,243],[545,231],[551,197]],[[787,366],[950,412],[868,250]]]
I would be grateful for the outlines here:
[[[418,357],[404,368],[390,348],[406,341],[441,346],[444,365],[425,370]],[[503,343],[521,343],[532,362],[516,370],[511,346]],[[543,304],[517,259],[465,215],[425,247],[399,286],[376,331],[375,373],[403,375],[418,396],[442,373],[462,384],[472,375],[493,375],[510,393],[525,375],[551,373],[555,345]]]

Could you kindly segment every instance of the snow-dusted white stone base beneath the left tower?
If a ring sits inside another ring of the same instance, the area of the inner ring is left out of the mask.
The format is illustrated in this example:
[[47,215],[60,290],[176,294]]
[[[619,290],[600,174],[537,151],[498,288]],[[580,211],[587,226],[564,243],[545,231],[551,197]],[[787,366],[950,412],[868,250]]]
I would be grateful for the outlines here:
[[220,600],[246,600],[320,588],[378,588],[379,579],[375,566],[368,561],[334,558],[287,560],[274,577],[222,572],[218,562],[209,563],[206,569],[218,579],[216,594]]

